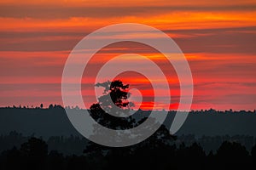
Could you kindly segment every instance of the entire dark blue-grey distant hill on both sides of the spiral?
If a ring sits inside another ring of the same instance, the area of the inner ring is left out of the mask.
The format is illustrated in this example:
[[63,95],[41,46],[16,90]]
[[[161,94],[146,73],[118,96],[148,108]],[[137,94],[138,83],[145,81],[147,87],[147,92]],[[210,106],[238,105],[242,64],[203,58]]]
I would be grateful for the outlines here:
[[[139,111],[136,119],[148,116],[149,111]],[[175,111],[171,111],[164,123],[170,127]],[[61,107],[49,109],[0,108],[0,134],[17,131],[24,135],[42,136],[81,136],[69,122]],[[192,111],[177,135],[251,135],[256,137],[255,111]]]

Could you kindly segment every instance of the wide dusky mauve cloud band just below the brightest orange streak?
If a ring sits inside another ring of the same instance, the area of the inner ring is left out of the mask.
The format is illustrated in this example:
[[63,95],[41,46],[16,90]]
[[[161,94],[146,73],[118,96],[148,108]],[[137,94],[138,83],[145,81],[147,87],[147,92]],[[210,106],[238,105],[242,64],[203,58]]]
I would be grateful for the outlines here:
[[[183,53],[212,54],[256,54],[256,27],[218,28],[199,30],[166,30],[166,33],[183,35],[174,37]],[[88,34],[81,31],[1,31],[0,51],[69,51]],[[48,37],[48,38],[44,38]],[[63,37],[64,39],[55,39]],[[70,38],[69,38],[70,37]],[[154,39],[153,39],[154,41]],[[136,48],[131,44],[120,44],[102,51],[111,53],[152,53],[150,48]]]

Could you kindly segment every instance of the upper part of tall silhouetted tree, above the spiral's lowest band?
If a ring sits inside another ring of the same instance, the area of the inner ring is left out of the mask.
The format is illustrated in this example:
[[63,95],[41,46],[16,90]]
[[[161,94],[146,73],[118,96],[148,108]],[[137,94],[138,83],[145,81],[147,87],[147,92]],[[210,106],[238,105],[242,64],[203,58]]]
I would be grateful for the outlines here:
[[[132,102],[127,100],[131,95],[126,92],[126,89],[129,88],[129,84],[124,85],[123,82],[117,80],[113,82],[97,83],[96,87],[103,87],[104,92],[103,95],[98,98],[99,102],[90,106],[90,116],[92,116],[96,122],[108,128],[127,129],[134,127],[135,119],[131,116],[127,116],[129,111],[131,111],[131,107],[134,106]],[[108,114],[110,112],[114,112],[117,115],[126,115],[127,117],[113,116]]]

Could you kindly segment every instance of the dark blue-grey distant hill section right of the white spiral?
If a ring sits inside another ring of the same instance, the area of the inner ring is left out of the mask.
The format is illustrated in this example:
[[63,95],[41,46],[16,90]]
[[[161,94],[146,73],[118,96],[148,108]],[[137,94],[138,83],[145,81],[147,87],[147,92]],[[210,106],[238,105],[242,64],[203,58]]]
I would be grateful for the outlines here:
[[[169,122],[166,122],[169,124]],[[180,134],[202,135],[250,135],[256,137],[255,111],[196,111],[189,113]]]

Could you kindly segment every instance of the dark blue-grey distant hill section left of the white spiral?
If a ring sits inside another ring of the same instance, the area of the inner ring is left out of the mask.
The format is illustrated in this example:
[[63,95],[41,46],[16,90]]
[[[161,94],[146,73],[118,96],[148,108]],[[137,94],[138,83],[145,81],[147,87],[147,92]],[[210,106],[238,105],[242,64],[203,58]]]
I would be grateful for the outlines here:
[[44,139],[50,136],[79,136],[62,108],[0,109],[0,134],[17,131],[25,136],[34,134]]

